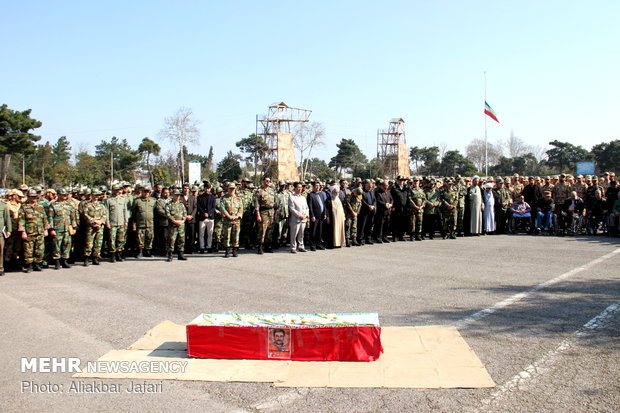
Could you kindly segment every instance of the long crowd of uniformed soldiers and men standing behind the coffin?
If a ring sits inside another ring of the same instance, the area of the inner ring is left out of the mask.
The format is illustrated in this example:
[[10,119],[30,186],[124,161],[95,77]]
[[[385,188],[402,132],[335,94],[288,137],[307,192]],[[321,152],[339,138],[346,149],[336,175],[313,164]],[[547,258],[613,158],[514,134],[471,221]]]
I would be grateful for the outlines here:
[[[220,250],[226,258],[237,257],[241,245],[258,254],[273,252],[289,244],[289,197],[295,186],[301,186],[308,203],[320,199],[326,206],[324,214],[305,221],[310,250],[333,247],[328,201],[334,193],[345,211],[345,247],[484,235],[489,231],[479,233],[470,225],[476,188],[493,193],[493,233],[510,232],[513,215],[525,203],[531,233],[540,232],[540,216],[548,220],[553,214],[560,218],[556,232],[564,234],[570,213],[583,217],[589,234],[618,234],[620,191],[613,173],[298,183],[265,177],[257,188],[247,178],[154,188],[126,182],[109,189],[20,185],[0,202],[0,274],[5,267],[28,273],[99,265],[102,257],[111,263],[152,255],[172,261],[173,255],[186,260],[186,254]],[[339,190],[330,190],[334,187]]]

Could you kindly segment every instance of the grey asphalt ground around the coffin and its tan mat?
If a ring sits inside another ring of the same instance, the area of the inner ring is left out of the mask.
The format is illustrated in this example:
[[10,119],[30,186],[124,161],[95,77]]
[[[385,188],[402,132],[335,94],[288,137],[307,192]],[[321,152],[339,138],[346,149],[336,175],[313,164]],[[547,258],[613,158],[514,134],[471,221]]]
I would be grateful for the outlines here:
[[[620,242],[603,236],[496,235],[8,273],[0,278],[0,412],[617,412],[617,304]],[[78,380],[71,373],[21,372],[22,357],[96,360],[163,320],[227,311],[378,312],[384,326],[457,325],[497,387],[164,381],[153,394],[87,394],[66,391]],[[24,382],[64,390],[32,392]]]

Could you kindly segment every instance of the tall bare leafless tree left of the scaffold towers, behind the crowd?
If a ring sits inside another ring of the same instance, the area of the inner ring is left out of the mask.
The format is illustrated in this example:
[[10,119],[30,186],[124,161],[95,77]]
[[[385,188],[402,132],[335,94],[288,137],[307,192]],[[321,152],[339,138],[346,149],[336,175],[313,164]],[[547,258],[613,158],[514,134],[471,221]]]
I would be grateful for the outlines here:
[[192,116],[193,112],[190,108],[180,108],[174,115],[164,119],[164,127],[157,134],[160,139],[172,142],[179,149],[181,183],[185,182],[183,147],[190,143],[198,144],[200,139],[199,122],[192,119]]

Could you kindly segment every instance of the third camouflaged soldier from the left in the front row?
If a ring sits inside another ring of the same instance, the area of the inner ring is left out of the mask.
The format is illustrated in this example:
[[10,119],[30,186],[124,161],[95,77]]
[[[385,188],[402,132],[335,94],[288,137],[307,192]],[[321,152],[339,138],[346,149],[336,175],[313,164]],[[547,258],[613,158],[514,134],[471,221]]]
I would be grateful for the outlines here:
[[82,206],[86,224],[84,242],[84,266],[88,267],[92,257],[94,265],[99,265],[101,246],[103,245],[103,228],[106,225],[107,209],[101,202],[102,193],[98,189],[92,191],[90,202]]

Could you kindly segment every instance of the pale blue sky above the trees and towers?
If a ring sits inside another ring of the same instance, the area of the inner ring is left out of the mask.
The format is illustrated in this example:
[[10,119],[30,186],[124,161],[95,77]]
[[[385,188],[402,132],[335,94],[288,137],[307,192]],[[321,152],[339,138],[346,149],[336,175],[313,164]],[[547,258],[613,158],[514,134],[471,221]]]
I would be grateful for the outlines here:
[[[405,120],[408,146],[464,153],[511,133],[546,147],[620,138],[620,2],[5,1],[0,103],[32,109],[36,133],[74,151],[156,138],[191,108],[216,160],[284,101],[376,155]],[[170,144],[160,142],[164,149]]]

